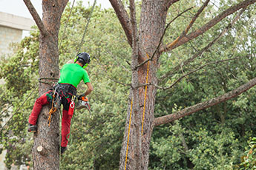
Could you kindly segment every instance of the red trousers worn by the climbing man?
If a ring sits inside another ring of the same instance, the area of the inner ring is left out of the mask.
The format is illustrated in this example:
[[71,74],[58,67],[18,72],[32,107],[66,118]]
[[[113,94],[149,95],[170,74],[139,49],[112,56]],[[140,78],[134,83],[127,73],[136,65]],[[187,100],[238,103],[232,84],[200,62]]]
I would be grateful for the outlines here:
[[[28,123],[32,125],[36,125],[37,119],[41,112],[42,106],[48,104],[46,94],[51,91],[45,92],[40,98],[36,99],[36,102],[33,106],[33,110],[30,114],[30,118],[28,119]],[[66,99],[64,99],[66,100]],[[68,110],[62,110],[62,147],[66,147],[68,145],[68,137],[70,132],[70,122],[71,122],[72,115],[68,115]],[[67,137],[68,135],[68,137]]]

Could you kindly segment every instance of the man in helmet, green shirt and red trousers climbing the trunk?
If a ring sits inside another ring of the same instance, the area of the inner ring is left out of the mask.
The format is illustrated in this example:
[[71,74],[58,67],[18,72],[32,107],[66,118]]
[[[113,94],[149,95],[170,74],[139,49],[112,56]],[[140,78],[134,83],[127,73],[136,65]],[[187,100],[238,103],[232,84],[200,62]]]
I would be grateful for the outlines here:
[[[93,91],[93,86],[89,79],[85,67],[90,63],[90,55],[87,52],[79,53],[75,59],[74,64],[65,64],[61,69],[61,74],[58,84],[54,89],[45,92],[40,98],[36,99],[33,106],[30,118],[28,120],[28,132],[36,132],[37,120],[41,112],[42,106],[53,103],[53,106],[59,107],[59,103],[63,104],[62,111],[62,143],[61,153],[64,153],[68,145],[68,137],[70,133],[70,121],[73,116],[74,98],[76,98],[76,87],[80,81],[88,86],[86,92],[79,96],[79,98],[86,98]],[[52,109],[53,109],[52,106]],[[52,111],[50,110],[50,112]],[[56,109],[55,109],[56,110]],[[50,126],[50,117],[48,120]]]

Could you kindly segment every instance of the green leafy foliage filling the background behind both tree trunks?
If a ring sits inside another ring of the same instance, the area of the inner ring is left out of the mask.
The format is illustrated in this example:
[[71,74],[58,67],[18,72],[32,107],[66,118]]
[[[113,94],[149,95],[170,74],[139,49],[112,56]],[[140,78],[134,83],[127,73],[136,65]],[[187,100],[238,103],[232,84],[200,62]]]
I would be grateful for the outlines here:
[[[220,6],[210,3],[203,15],[192,27],[195,30],[229,5],[220,1]],[[237,1],[229,1],[229,4]],[[177,38],[185,29],[191,17],[202,3],[199,1],[179,1],[168,13],[167,21],[188,7],[196,5],[191,13],[177,18],[168,28],[164,43]],[[70,13],[70,4],[62,16],[59,38],[59,67],[73,59],[87,22],[91,7],[82,7],[82,2],[73,8],[65,30],[65,22]],[[157,91],[155,116],[168,115],[209,100],[255,78],[256,44],[255,5],[249,7],[240,20],[200,58],[182,69],[171,72],[182,61],[191,58],[206,47],[232,21],[232,17],[221,21],[203,36],[195,38],[182,47],[161,55],[161,65],[157,72],[159,86],[170,86],[180,76],[212,61],[231,59],[219,64],[210,64],[194,74],[186,76],[171,89]],[[64,34],[65,30],[65,34]],[[63,38],[62,38],[63,37]],[[1,132],[1,149],[7,149],[6,165],[31,164],[30,149],[33,134],[27,133],[27,118],[37,98],[39,62],[39,31],[34,30],[15,47],[15,54],[1,58],[0,78],[5,84],[0,86],[0,119],[9,118],[19,109],[20,104],[30,97],[22,109],[13,116],[8,126]],[[125,128],[126,104],[131,72],[126,61],[131,56],[125,34],[114,10],[96,7],[85,34],[81,51],[90,53],[88,66],[93,92],[89,96],[91,115],[86,110],[76,111],[71,126],[68,151],[62,155],[61,169],[118,169],[119,151]],[[123,85],[124,84],[124,85]],[[85,85],[79,85],[79,93]],[[31,95],[32,92],[32,95]],[[156,127],[151,137],[149,169],[235,169],[237,165],[252,166],[255,154],[241,155],[252,150],[255,141],[247,146],[247,140],[255,132],[255,88],[231,101],[226,101],[209,109],[194,113],[174,123]],[[9,108],[5,110],[6,108]],[[240,166],[243,167],[243,166]]]

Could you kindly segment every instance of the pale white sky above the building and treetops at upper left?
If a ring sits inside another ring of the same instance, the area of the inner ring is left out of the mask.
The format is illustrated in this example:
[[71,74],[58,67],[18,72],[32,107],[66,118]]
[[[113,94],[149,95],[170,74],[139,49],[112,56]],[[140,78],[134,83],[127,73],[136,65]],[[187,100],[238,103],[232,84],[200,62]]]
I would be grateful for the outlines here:
[[[36,8],[39,16],[42,17],[42,0],[30,0],[33,6]],[[69,0],[73,3],[73,0]],[[78,0],[76,0],[78,1]],[[85,6],[90,3],[93,5],[94,0],[83,0]],[[111,3],[108,0],[97,0],[96,4],[102,4],[102,8],[111,7]],[[16,16],[23,16],[26,18],[32,18],[23,0],[0,0],[0,12],[10,13]]]

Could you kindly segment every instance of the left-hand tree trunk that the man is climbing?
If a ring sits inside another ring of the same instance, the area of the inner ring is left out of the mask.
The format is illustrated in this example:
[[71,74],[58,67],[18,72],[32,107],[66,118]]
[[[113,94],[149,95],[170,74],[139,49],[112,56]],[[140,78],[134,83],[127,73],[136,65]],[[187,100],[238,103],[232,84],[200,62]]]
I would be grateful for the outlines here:
[[[30,1],[24,0],[31,15],[40,30],[39,37],[39,77],[59,78],[59,50],[58,35],[60,18],[68,0],[43,0],[42,21],[36,10],[30,8]],[[47,84],[40,84],[39,95],[50,88]],[[33,169],[59,169],[59,112],[55,112],[50,127],[47,125],[49,106],[44,106],[37,122],[38,131],[34,135]],[[44,148],[44,154],[37,151],[38,146]]]

